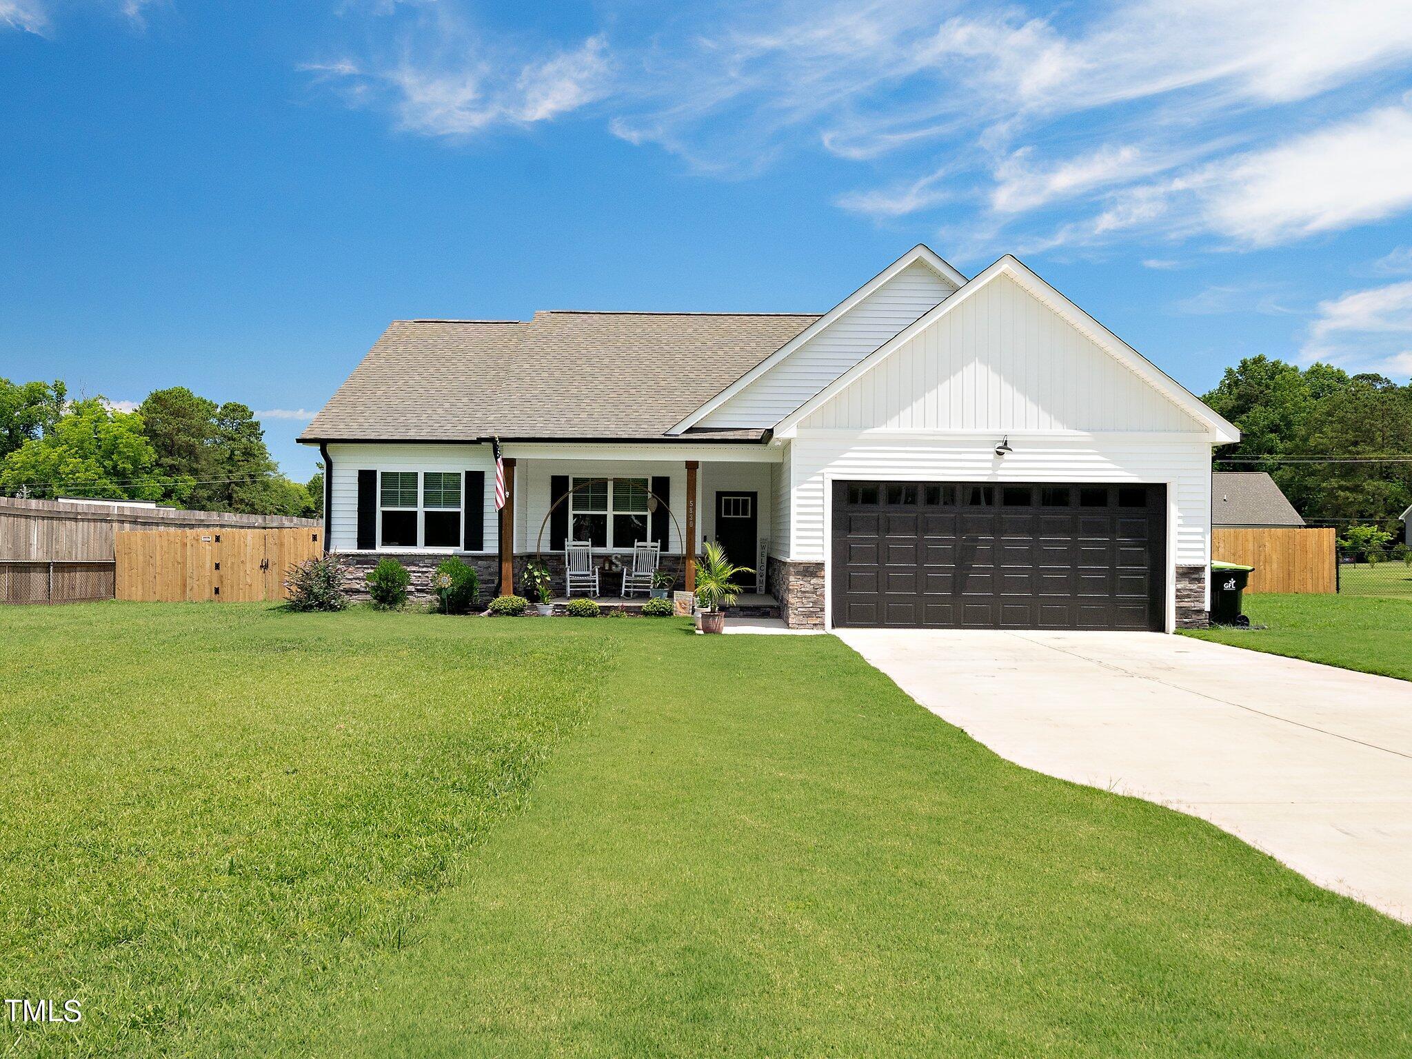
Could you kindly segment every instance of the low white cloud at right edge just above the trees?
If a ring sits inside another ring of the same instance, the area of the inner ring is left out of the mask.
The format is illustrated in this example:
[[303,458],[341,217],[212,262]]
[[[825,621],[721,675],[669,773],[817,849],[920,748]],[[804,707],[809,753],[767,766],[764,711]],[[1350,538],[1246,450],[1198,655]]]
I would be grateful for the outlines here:
[[1320,302],[1300,359],[1401,377],[1412,374],[1412,281]]

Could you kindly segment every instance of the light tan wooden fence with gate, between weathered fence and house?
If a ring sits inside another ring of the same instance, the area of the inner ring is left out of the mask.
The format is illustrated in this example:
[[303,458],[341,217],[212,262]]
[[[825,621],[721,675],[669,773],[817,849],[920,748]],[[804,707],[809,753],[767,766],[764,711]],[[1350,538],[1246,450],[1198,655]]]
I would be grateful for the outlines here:
[[323,530],[147,530],[116,535],[117,599],[254,603],[285,597],[284,575],[323,554]]

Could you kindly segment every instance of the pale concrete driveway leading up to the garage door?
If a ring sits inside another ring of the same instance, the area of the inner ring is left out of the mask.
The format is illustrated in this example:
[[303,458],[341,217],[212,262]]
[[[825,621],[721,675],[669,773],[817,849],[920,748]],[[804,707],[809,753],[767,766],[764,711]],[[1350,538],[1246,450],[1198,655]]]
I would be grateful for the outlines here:
[[1148,633],[839,635],[1001,757],[1202,816],[1412,922],[1412,683]]

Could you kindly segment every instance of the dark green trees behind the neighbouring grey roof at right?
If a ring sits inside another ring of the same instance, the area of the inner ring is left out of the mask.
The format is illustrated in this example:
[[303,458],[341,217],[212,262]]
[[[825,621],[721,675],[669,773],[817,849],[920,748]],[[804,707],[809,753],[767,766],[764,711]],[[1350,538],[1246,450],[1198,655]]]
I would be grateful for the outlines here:
[[1412,383],[1258,356],[1226,369],[1203,398],[1241,429],[1217,470],[1265,470],[1319,525],[1392,534],[1412,504]]

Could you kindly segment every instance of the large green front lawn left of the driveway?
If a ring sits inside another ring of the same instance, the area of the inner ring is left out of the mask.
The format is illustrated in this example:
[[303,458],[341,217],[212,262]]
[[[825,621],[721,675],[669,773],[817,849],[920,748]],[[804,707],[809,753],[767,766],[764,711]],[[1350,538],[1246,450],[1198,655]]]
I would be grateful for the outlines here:
[[1412,1052],[1406,926],[832,637],[100,604],[0,658],[0,984],[86,1014],[21,1055]]

